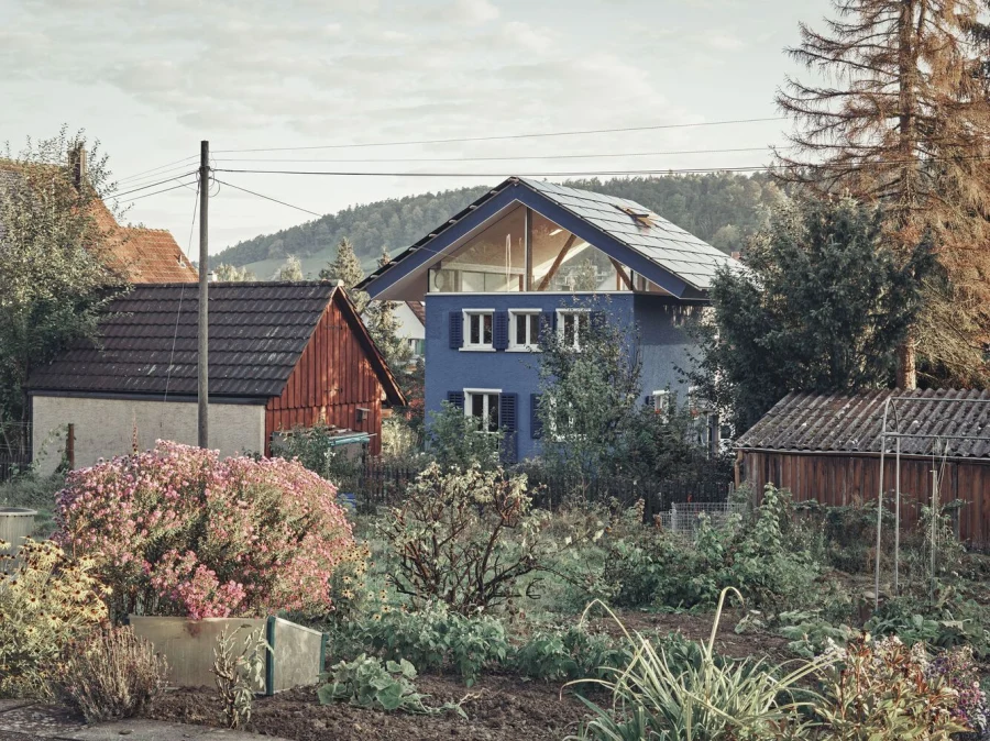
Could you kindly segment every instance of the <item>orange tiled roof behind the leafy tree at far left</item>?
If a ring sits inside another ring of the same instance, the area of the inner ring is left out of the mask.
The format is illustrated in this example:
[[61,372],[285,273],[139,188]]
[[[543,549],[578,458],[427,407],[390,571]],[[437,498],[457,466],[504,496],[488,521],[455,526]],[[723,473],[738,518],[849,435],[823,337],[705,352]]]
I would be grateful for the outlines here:
[[[56,167],[56,165],[51,165]],[[21,173],[16,163],[0,159],[0,185],[14,185]],[[107,234],[106,267],[128,283],[196,283],[199,275],[172,236],[163,229],[121,226],[107,204],[92,202],[92,218]],[[0,223],[0,237],[3,224]]]

